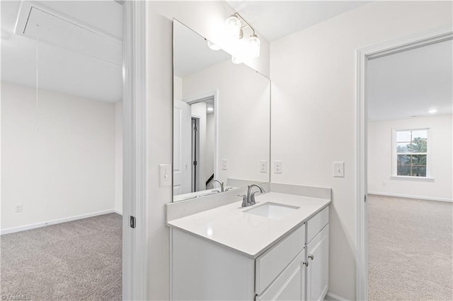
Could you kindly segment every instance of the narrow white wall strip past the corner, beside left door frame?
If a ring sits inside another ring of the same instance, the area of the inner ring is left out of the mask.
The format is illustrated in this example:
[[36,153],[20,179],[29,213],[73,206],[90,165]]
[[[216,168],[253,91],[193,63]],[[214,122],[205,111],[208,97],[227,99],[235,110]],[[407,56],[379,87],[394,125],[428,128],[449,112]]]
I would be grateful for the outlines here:
[[122,102],[115,103],[115,211],[122,214]]

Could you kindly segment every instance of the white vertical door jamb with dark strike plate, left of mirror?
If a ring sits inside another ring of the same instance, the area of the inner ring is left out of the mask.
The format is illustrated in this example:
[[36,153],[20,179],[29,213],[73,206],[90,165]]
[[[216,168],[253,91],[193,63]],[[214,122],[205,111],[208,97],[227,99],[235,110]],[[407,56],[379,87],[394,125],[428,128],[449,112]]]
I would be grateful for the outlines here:
[[122,13],[122,300],[147,300],[146,8],[124,1]]

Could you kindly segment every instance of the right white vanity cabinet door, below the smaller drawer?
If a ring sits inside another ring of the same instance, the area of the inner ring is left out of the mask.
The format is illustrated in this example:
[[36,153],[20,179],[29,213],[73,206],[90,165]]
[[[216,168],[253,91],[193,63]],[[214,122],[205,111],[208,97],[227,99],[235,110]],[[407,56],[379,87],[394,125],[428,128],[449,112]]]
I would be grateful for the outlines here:
[[328,225],[309,242],[306,252],[306,297],[322,301],[328,290]]

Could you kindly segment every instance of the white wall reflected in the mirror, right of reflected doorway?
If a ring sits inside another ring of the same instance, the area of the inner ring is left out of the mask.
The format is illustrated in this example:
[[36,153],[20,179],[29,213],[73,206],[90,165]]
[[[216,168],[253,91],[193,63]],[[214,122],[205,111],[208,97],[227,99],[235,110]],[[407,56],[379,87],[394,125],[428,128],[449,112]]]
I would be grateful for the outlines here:
[[[183,98],[218,90],[219,175],[216,178],[268,182],[260,160],[269,160],[270,82],[244,64],[222,61],[183,78]],[[228,170],[222,170],[228,160]]]

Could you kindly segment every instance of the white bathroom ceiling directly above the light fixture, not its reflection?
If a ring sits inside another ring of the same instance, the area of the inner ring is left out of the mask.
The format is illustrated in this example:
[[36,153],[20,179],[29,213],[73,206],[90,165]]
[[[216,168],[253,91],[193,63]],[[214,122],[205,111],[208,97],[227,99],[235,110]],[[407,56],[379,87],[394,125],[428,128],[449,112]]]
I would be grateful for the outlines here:
[[370,1],[231,1],[227,0],[269,42],[280,39]]

